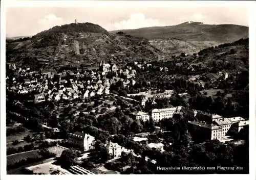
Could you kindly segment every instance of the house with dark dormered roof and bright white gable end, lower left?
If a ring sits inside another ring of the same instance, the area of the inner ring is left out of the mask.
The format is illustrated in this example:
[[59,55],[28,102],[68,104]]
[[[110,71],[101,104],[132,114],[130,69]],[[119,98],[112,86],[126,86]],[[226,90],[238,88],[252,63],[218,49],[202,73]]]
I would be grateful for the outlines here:
[[95,138],[89,134],[83,132],[70,133],[68,136],[69,144],[87,151],[94,148]]

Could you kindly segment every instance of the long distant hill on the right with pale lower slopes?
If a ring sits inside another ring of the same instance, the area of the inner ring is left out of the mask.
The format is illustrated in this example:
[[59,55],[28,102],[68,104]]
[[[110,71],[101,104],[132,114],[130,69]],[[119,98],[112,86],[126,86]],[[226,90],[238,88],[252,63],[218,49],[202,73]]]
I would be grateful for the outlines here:
[[110,33],[120,31],[135,37],[147,38],[152,45],[171,54],[198,53],[207,47],[248,37],[248,27],[242,25],[211,25],[202,22],[184,22],[166,27],[119,30]]

